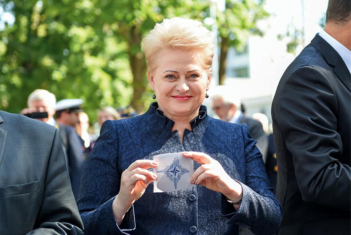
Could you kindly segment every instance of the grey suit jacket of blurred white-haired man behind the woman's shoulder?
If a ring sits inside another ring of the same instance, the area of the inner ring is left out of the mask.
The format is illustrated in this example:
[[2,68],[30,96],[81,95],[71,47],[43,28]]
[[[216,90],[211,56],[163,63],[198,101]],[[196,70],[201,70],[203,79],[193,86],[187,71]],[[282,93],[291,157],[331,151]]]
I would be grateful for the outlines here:
[[245,115],[240,118],[239,123],[247,124],[251,137],[257,141],[256,146],[262,153],[262,157],[265,162],[268,150],[268,137],[263,131],[262,124],[253,118],[246,117]]

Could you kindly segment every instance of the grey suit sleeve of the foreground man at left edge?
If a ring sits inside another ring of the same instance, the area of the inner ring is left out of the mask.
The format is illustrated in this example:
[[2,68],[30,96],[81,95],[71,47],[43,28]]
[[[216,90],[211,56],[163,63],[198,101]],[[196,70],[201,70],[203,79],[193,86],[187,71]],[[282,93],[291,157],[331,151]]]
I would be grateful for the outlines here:
[[48,160],[43,202],[35,227],[38,229],[31,231],[30,235],[83,235],[58,129]]

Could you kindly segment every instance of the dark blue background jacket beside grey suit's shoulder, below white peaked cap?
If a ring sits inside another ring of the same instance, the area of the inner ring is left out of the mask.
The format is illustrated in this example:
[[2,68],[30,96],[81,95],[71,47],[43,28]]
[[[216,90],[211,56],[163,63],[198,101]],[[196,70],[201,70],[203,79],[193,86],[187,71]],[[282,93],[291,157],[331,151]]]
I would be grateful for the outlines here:
[[83,145],[73,127],[59,124],[59,130],[61,132],[63,150],[67,161],[73,194],[75,199],[78,200],[84,166]]

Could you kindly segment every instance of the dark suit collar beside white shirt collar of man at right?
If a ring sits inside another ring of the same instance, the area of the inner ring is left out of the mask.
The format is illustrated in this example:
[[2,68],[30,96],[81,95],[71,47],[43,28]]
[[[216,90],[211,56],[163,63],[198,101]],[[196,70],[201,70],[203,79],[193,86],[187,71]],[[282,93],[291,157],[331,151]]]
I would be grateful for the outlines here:
[[316,35],[311,41],[313,47],[320,51],[328,64],[334,67],[335,75],[351,91],[351,75],[341,56],[320,35]]

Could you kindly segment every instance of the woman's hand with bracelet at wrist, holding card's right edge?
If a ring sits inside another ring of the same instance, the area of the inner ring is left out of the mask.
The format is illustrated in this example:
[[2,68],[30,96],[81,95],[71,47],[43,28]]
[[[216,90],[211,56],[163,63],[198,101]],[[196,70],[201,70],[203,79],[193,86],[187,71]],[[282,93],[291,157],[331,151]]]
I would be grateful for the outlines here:
[[183,156],[192,158],[201,164],[192,175],[190,183],[220,192],[233,201],[238,201],[242,197],[240,183],[234,181],[217,160],[199,152],[184,152]]

